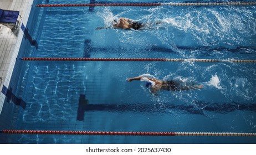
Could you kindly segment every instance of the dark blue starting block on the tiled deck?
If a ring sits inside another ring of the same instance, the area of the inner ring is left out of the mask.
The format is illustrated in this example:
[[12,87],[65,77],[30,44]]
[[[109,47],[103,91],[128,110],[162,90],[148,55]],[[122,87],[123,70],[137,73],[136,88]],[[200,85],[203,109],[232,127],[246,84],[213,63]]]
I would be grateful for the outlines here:
[[[20,19],[18,19],[20,17]],[[9,11],[0,9],[0,24],[10,28],[17,29],[21,23],[19,11]]]

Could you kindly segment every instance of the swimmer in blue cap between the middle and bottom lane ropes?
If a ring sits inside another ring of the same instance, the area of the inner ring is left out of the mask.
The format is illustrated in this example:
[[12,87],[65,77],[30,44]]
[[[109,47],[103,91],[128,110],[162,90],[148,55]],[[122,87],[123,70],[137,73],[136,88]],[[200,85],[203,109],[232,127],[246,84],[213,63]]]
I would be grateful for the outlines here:
[[157,79],[153,79],[145,76],[137,76],[137,77],[132,77],[127,79],[127,81],[129,82],[133,80],[146,81],[146,87],[149,87],[150,91],[155,95],[159,90],[178,91],[178,90],[190,90],[190,89],[203,88],[203,85],[180,86],[179,82],[175,80],[162,81],[162,80],[157,80]]

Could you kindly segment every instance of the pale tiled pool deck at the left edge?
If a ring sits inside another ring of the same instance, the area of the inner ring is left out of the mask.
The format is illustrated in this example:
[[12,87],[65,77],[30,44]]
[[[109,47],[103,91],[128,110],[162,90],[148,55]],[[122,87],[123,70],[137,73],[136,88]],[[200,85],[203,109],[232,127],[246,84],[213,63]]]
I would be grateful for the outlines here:
[[23,38],[21,25],[22,23],[27,25],[32,3],[33,0],[0,0],[1,9],[19,11],[22,17],[21,24],[16,30],[9,29],[0,24],[0,113],[6,97],[2,93],[2,88],[3,85],[6,87],[9,86],[9,81],[11,80],[12,71]]

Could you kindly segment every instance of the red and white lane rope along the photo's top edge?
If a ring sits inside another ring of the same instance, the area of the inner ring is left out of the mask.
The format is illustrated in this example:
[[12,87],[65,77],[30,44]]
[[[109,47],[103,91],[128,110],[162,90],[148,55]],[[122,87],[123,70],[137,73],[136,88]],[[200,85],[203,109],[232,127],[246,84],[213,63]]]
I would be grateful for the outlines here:
[[94,3],[94,4],[37,4],[35,7],[106,7],[106,6],[254,6],[256,2],[227,2],[227,3]]

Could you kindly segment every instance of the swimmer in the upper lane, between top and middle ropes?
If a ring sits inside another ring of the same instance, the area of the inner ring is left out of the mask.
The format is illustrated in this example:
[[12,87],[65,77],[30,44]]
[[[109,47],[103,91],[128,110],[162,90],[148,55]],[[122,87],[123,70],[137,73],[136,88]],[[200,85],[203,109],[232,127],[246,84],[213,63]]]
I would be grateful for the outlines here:
[[[120,28],[120,29],[126,29],[126,30],[130,30],[130,29],[138,30],[144,27],[144,24],[134,22],[128,18],[119,18],[118,22],[116,20],[113,20],[112,26],[113,28]],[[107,28],[99,27],[96,29],[98,30],[98,29],[107,29]]]

